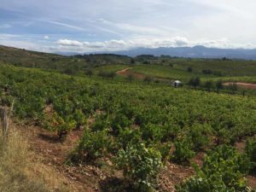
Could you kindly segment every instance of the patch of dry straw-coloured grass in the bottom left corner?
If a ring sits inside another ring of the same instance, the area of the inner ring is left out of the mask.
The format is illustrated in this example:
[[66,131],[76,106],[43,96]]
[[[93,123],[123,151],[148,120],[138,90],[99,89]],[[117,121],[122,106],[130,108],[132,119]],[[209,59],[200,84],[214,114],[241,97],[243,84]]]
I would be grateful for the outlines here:
[[[1,192],[67,191],[56,187],[57,176],[54,172],[32,161],[33,154],[19,131],[12,129],[9,137],[2,137],[1,132],[0,135]],[[46,181],[46,177],[51,183]]]

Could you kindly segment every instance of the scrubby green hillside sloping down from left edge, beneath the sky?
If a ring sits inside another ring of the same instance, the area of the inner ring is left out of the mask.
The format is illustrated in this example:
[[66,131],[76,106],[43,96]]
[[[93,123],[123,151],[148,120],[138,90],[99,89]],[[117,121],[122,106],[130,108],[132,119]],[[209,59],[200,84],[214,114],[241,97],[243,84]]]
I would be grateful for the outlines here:
[[79,73],[87,67],[124,64],[130,59],[120,55],[64,56],[0,45],[0,62],[19,67],[37,67],[61,73]]

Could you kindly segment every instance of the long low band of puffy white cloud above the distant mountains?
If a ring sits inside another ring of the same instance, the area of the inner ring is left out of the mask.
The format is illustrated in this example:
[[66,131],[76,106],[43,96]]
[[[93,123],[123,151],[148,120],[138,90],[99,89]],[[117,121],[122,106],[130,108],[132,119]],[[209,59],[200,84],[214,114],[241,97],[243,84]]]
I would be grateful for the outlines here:
[[232,44],[229,39],[198,39],[191,41],[184,37],[174,38],[133,38],[129,40],[109,40],[102,42],[79,42],[69,39],[60,39],[56,42],[58,49],[77,52],[95,52],[95,51],[115,51],[136,48],[159,48],[159,47],[192,47],[195,45],[204,45],[212,48],[253,48],[252,44]]

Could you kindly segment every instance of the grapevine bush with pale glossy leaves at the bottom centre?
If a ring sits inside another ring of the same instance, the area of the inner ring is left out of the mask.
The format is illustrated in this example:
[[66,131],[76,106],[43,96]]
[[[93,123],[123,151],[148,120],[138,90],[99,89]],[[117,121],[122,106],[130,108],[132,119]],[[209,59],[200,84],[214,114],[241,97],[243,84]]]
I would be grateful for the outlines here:
[[137,191],[150,191],[162,167],[160,152],[146,148],[143,143],[129,145],[120,150],[114,160],[115,166],[123,170],[125,179]]

